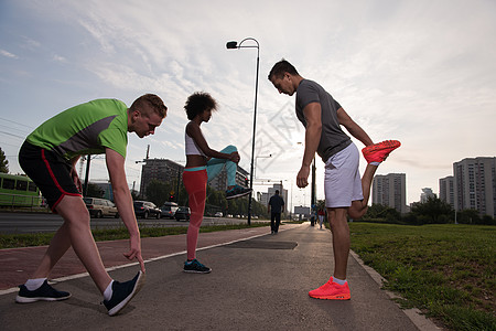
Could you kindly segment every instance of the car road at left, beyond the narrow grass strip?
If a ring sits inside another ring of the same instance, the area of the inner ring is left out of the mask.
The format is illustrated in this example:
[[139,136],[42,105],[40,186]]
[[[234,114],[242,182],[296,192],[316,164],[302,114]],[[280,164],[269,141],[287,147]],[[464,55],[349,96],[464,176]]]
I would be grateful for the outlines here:
[[[188,222],[175,220],[142,220],[138,218],[140,226],[187,226]],[[266,221],[267,222],[267,221]],[[46,233],[56,232],[63,220],[56,214],[43,213],[0,213],[0,234]],[[244,218],[205,217],[202,226],[215,224],[246,224]],[[91,218],[91,228],[116,228],[123,226],[120,218]]]

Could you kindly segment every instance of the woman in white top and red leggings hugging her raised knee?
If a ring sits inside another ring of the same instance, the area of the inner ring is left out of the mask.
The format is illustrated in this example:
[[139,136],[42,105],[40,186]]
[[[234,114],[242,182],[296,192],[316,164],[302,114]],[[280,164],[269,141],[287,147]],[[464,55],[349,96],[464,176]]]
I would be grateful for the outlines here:
[[191,95],[184,106],[187,119],[185,130],[186,167],[183,172],[184,186],[188,194],[191,209],[190,226],[187,227],[187,259],[184,263],[185,273],[207,274],[211,268],[196,259],[196,243],[200,226],[205,212],[206,185],[217,177],[223,169],[227,172],[226,199],[245,196],[250,189],[236,184],[236,171],[239,153],[234,146],[220,151],[212,149],[205,140],[200,126],[208,122],[212,111],[217,109],[217,102],[207,93],[197,92]]

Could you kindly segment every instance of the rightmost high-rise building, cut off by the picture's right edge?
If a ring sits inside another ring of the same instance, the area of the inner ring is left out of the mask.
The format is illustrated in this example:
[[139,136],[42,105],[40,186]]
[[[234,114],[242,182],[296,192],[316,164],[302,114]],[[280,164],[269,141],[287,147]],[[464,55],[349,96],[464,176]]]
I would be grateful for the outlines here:
[[496,216],[496,157],[467,158],[453,163],[454,207]]

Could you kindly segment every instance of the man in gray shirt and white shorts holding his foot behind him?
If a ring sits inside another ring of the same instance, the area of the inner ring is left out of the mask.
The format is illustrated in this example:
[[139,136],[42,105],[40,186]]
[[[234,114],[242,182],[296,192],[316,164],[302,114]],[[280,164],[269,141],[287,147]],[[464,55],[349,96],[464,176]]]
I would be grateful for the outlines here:
[[[377,167],[389,153],[400,147],[397,140],[374,143],[321,85],[300,76],[293,65],[282,60],[274,64],[269,81],[279,93],[296,94],[296,117],[305,127],[305,150],[296,175],[296,185],[309,184],[310,166],[315,152],[325,163],[325,206],[333,233],[334,274],[323,286],[311,290],[316,299],[349,300],[346,281],[349,254],[347,216],[360,218],[368,209],[370,185]],[[362,150],[367,168],[360,179],[359,152],[342,126],[365,145]]]

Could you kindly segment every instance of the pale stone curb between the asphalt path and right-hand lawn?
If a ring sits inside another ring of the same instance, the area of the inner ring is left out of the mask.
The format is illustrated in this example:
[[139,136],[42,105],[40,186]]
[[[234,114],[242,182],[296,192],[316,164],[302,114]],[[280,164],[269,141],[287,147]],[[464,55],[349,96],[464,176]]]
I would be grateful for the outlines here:
[[[369,266],[365,265],[362,258],[353,250],[349,250],[349,255],[353,256],[353,258],[367,271],[367,274],[370,276],[371,279],[374,279],[377,285],[379,285],[382,288],[384,282],[386,282],[386,279],[380,276],[376,270],[370,268]],[[401,298],[397,293],[393,293],[389,290],[382,289],[386,295],[392,300],[392,299],[399,299]],[[396,303],[398,305],[398,303]],[[398,305],[398,307],[400,307]],[[439,331],[442,330],[441,328],[436,327],[430,319],[428,319],[422,312],[417,308],[411,309],[400,309],[405,312],[405,314],[416,324],[416,327],[420,331]]]

